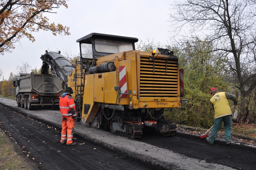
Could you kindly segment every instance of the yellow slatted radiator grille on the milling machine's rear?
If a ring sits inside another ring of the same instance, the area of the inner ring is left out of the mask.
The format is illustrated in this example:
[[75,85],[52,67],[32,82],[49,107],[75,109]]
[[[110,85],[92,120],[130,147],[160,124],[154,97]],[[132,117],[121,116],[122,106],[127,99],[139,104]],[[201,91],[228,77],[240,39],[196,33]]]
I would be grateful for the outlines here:
[[178,61],[157,58],[154,63],[149,57],[140,58],[140,97],[177,97]]

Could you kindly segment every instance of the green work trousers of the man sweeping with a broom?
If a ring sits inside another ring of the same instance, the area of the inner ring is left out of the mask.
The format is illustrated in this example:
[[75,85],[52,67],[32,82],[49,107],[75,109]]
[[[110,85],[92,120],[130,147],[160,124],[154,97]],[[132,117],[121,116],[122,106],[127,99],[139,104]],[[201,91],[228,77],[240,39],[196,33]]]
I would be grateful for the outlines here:
[[211,135],[209,137],[209,141],[211,143],[214,142],[215,136],[217,135],[218,131],[221,129],[222,122],[224,122],[225,140],[226,142],[230,141],[231,132],[232,132],[232,121],[231,121],[231,115],[227,115],[227,116],[214,119]]

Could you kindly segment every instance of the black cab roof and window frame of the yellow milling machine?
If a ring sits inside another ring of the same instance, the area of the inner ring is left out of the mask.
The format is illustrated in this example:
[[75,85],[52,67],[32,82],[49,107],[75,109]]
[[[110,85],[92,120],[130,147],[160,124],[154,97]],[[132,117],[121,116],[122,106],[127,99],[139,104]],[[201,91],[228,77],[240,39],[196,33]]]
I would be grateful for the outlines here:
[[106,55],[111,54],[111,53],[97,52],[95,50],[95,41],[94,41],[95,39],[128,42],[128,43],[132,44],[133,50],[135,50],[135,43],[139,41],[138,38],[133,38],[133,37],[124,37],[124,36],[100,34],[100,33],[90,33],[82,38],[79,38],[76,41],[76,42],[79,42],[80,53],[81,53],[81,44],[92,44],[93,58],[95,56],[106,56]]

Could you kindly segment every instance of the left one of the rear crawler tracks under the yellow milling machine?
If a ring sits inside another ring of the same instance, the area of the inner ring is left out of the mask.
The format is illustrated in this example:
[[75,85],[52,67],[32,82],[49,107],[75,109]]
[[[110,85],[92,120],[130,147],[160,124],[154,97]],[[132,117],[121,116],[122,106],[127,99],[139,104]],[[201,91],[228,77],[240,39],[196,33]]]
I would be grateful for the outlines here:
[[116,117],[110,122],[110,131],[129,138],[140,138],[142,135],[143,123],[139,121],[123,121]]

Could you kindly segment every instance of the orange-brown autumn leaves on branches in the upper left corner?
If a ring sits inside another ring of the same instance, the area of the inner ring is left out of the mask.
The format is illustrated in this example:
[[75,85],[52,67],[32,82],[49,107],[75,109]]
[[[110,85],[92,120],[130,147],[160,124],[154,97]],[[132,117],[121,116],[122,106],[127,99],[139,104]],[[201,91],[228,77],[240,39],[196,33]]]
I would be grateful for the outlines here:
[[60,6],[68,8],[65,0],[0,0],[0,54],[11,52],[20,38],[35,41],[32,32],[39,30],[50,31],[53,35],[70,35],[69,27],[49,23],[43,15],[56,13],[54,10]]

